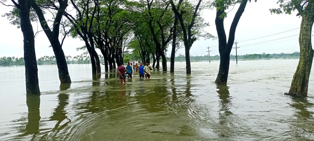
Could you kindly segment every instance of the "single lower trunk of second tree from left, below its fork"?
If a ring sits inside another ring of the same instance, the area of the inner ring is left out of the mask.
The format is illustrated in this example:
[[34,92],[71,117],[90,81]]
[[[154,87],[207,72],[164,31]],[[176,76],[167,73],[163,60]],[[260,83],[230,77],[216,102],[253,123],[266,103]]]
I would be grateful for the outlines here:
[[53,53],[56,56],[59,79],[61,83],[71,83],[71,78],[68,71],[67,60],[65,59],[64,52],[57,37],[48,37]]

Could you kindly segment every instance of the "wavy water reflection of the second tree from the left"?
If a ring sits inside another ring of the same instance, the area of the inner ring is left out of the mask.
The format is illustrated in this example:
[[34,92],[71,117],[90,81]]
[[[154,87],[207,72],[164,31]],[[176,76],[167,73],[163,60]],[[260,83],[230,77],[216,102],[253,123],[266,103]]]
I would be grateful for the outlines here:
[[[54,109],[54,112],[52,113],[52,116],[50,117],[49,121],[57,121],[54,128],[52,128],[53,132],[56,132],[56,134],[65,126],[68,125],[68,123],[71,122],[70,119],[66,116],[67,112],[65,111],[65,107],[69,104],[69,96],[68,94],[65,94],[65,90],[68,90],[70,88],[71,84],[60,84],[60,90],[61,93],[58,95],[58,106]],[[67,119],[67,122],[60,124]]]

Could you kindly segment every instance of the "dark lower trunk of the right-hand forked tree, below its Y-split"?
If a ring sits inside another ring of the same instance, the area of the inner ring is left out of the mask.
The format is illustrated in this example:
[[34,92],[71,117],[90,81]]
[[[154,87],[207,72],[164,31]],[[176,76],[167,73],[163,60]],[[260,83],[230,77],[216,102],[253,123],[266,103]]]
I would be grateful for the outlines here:
[[220,54],[219,72],[216,78],[216,84],[226,84],[228,80],[230,63],[230,53]]

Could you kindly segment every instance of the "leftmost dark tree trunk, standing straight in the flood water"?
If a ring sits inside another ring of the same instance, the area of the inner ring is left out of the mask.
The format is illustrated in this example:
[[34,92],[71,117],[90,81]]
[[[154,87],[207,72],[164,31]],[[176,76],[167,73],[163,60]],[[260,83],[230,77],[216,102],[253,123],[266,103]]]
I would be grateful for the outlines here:
[[26,94],[39,95],[38,69],[35,54],[35,39],[30,23],[30,0],[19,0],[20,25],[24,37],[24,62]]

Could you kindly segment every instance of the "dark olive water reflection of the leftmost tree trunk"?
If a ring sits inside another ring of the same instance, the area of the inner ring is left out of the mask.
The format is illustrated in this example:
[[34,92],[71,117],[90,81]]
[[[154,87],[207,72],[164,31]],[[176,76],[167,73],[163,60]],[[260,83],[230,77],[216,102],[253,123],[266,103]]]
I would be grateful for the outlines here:
[[26,132],[19,135],[25,136],[34,134],[34,137],[39,133],[39,121],[41,119],[39,107],[40,107],[40,96],[26,95],[26,105],[28,107],[28,122],[26,125]]

